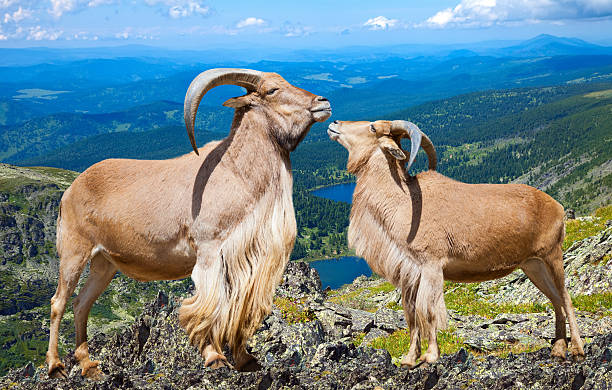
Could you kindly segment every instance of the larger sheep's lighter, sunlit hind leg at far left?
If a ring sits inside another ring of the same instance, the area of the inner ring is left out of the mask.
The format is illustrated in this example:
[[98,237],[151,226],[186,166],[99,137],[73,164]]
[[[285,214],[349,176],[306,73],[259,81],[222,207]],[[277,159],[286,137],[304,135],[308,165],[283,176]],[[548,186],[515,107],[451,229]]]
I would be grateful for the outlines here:
[[[72,296],[79,277],[89,259],[90,250],[84,244],[79,245],[75,240],[69,249],[64,249],[60,255],[59,278],[57,290],[51,298],[51,322],[49,325],[49,349],[47,350],[47,364],[49,365],[49,376],[52,378],[66,378],[68,375],[64,364],[59,358],[57,349],[59,328],[66,310],[66,302]],[[66,248],[66,245],[63,245]]]

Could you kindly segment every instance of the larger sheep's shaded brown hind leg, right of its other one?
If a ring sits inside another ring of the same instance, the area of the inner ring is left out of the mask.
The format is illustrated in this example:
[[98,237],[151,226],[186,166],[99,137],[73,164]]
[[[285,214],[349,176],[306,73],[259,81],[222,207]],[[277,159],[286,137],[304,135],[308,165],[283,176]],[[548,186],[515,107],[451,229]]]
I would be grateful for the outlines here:
[[87,346],[87,317],[94,302],[106,289],[106,286],[113,279],[117,272],[117,267],[109,262],[101,254],[96,255],[91,260],[89,276],[87,282],[79,291],[79,295],[73,302],[74,308],[74,327],[76,330],[76,350],[74,357],[81,366],[81,375],[96,379],[101,375],[98,368],[99,361],[89,359],[89,349]]

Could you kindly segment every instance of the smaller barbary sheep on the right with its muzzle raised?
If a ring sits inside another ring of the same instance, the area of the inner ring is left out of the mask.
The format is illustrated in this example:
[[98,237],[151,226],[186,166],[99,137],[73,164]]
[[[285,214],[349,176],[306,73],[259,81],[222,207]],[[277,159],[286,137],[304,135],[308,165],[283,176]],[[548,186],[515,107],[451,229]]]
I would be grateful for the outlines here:
[[[411,122],[335,121],[328,134],[348,150],[347,168],[357,177],[349,246],[402,290],[410,327],[402,365],[416,365],[425,338],[429,347],[422,361],[438,359],[437,330],[446,326],[445,279],[479,282],[501,278],[517,267],[553,304],[551,355],[565,358],[567,317],[571,352],[576,359],[584,357],[565,288],[559,203],[523,184],[466,184],[437,173],[433,144]],[[403,137],[411,139],[409,161],[401,148]],[[410,176],[407,171],[421,142],[429,170]]]

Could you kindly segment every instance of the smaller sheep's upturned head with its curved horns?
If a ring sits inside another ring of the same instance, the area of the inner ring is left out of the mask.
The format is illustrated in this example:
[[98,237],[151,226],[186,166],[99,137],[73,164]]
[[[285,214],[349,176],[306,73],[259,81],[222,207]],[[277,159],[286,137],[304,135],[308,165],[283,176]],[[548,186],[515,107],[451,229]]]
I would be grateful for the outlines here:
[[[408,170],[421,146],[427,153],[429,169],[436,169],[436,149],[430,139],[412,122],[334,121],[329,125],[327,134],[348,150],[349,172],[356,172],[379,150],[401,163],[407,162],[406,170]],[[410,138],[409,157],[406,157],[406,152],[402,149],[401,139],[404,137]]]

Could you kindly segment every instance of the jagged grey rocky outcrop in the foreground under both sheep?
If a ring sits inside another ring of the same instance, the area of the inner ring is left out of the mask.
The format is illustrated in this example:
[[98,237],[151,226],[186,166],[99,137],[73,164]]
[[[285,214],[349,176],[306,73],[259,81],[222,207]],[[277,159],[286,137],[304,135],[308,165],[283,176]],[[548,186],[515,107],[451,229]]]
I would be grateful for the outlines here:
[[[28,365],[0,379],[0,388],[11,389],[506,389],[559,388],[606,389],[612,386],[612,332],[594,332],[586,345],[587,358],[580,363],[558,363],[549,357],[550,346],[536,352],[509,354],[505,358],[474,354],[486,342],[470,341],[474,350],[460,349],[443,355],[432,365],[413,370],[393,364],[385,350],[356,346],[350,334],[356,331],[388,334],[402,326],[394,310],[375,313],[348,309],[322,300],[316,271],[304,263],[291,263],[277,299],[312,310],[307,321],[291,322],[276,307],[250,340],[248,348],[262,364],[257,372],[203,367],[199,353],[189,345],[177,318],[180,298],[160,293],[136,321],[116,334],[95,335],[92,355],[102,360],[105,377],[99,382],[81,378],[69,359],[67,379],[48,379],[44,368]],[[538,315],[549,317],[549,315]],[[507,315],[494,320],[453,320],[474,334],[489,334],[512,341],[521,332],[503,332],[503,327],[534,322],[542,328],[544,318]],[[471,334],[471,333],[470,333]]]

